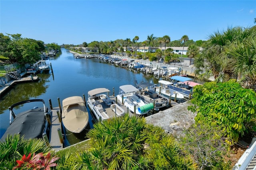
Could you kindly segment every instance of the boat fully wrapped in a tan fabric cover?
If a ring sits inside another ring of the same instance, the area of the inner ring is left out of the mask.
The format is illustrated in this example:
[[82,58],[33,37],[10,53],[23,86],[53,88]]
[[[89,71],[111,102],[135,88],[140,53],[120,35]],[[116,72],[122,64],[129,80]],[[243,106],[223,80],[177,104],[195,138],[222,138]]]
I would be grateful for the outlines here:
[[82,132],[89,122],[85,102],[80,96],[72,96],[62,101],[62,123],[70,132]]

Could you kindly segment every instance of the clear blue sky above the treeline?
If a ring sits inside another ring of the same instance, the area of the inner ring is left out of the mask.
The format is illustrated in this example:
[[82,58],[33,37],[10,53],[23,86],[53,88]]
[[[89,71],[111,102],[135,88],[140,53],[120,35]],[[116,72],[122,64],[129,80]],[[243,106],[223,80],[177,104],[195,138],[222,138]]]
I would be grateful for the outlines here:
[[207,40],[228,27],[254,26],[255,0],[0,0],[0,32],[44,43],[82,44],[138,36]]

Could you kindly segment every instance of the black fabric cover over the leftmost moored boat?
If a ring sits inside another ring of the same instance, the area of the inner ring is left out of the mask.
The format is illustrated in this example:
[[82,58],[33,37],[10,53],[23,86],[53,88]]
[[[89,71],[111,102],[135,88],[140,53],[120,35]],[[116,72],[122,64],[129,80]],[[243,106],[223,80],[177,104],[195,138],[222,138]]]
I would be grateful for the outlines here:
[[44,107],[19,113],[7,128],[1,141],[4,141],[8,134],[17,133],[20,134],[20,137],[24,135],[25,139],[42,138],[45,123]]

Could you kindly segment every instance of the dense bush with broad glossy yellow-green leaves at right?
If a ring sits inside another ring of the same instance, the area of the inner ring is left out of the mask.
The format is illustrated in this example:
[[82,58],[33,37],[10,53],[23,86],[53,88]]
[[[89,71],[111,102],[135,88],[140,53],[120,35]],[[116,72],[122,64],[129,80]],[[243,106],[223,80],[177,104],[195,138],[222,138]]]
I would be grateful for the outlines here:
[[221,126],[224,135],[234,142],[248,132],[246,125],[255,119],[256,93],[234,80],[194,87],[191,102],[194,106],[188,109],[197,112],[196,123]]

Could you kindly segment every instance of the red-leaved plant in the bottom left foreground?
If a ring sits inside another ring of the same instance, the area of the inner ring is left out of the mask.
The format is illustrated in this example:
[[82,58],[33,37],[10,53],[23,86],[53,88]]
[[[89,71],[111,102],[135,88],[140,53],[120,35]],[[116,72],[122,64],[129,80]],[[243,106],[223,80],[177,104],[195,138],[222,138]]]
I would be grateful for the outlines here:
[[18,166],[15,166],[12,170],[15,170],[17,168],[21,168],[21,170],[50,170],[50,167],[57,166],[57,164],[54,162],[58,159],[59,158],[57,158],[56,156],[50,158],[50,152],[48,152],[46,156],[44,156],[42,152],[39,154],[34,153],[33,158],[31,159],[31,154],[29,153],[28,157],[26,157],[26,155],[23,155],[21,160],[16,160]]

